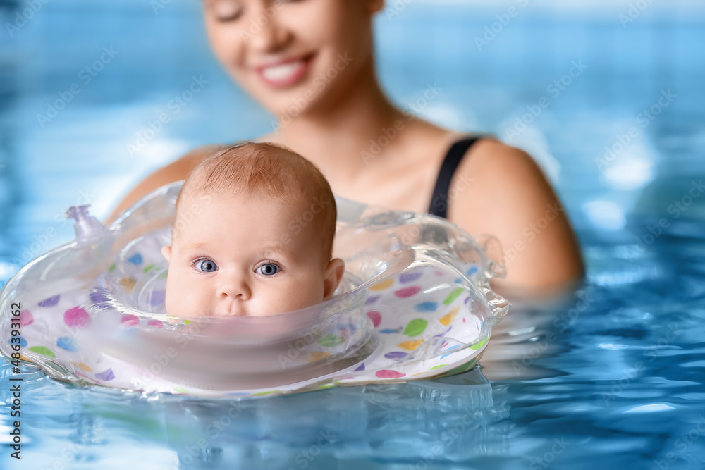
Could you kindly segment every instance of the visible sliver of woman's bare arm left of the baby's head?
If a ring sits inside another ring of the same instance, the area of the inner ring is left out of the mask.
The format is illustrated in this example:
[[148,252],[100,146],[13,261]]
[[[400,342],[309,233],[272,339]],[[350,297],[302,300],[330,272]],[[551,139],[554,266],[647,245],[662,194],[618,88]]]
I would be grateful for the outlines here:
[[168,185],[168,183],[173,183],[174,181],[185,179],[186,175],[188,175],[188,173],[195,168],[195,166],[197,166],[202,159],[212,154],[213,151],[219,147],[221,146],[204,145],[202,147],[197,147],[182,156],[177,161],[169,163],[168,165],[159,168],[157,171],[154,171],[154,173],[147,176],[147,178],[140,181],[140,183],[137,183],[137,186],[133,187],[133,189],[130,190],[125,197],[123,197],[110,216],[106,219],[106,223],[112,223],[116,218],[118,218],[122,211],[135,204],[135,202],[139,201],[150,192],[156,190],[158,187]]

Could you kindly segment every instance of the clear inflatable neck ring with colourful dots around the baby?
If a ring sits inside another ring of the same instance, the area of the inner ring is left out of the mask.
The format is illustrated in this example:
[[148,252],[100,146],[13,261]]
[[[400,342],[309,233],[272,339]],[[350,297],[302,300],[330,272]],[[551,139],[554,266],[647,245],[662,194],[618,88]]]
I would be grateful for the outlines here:
[[489,287],[501,266],[457,225],[336,197],[334,256],[346,272],[333,298],[266,317],[168,316],[160,249],[171,244],[182,184],[155,190],[109,228],[72,206],[76,240],[0,292],[4,357],[19,353],[76,385],[278,395],[467,371],[510,307]]

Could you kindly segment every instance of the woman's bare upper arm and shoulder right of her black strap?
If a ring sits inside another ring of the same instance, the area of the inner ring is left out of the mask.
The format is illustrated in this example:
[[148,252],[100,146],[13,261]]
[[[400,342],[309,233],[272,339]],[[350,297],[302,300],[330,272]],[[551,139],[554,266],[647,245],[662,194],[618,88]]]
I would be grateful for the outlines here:
[[580,247],[565,209],[524,151],[478,142],[462,159],[450,194],[450,221],[501,242],[508,276],[496,287],[536,293],[582,277]]

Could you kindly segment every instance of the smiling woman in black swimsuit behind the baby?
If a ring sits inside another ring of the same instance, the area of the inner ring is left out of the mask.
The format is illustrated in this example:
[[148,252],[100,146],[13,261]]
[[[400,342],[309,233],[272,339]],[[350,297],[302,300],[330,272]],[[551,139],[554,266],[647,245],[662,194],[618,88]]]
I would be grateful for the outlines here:
[[[383,8],[384,0],[204,0],[204,17],[223,67],[278,116],[277,130],[259,141],[306,156],[348,199],[430,211],[495,235],[508,268],[498,287],[536,292],[579,278],[570,223],[527,154],[408,116],[384,95],[372,43],[372,16]],[[185,178],[213,149],[149,175],[109,220]]]

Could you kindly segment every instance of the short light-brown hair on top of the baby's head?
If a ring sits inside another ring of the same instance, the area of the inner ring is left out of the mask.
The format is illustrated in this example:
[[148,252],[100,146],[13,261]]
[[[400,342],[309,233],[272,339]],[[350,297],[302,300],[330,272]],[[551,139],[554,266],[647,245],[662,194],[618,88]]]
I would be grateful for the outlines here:
[[[176,199],[177,220],[180,203],[192,194],[251,195],[258,199],[306,204],[312,209],[292,219],[289,226],[295,230],[296,223],[311,223],[321,233],[326,263],[333,256],[338,212],[331,185],[314,163],[287,147],[246,142],[216,150],[186,177]],[[319,207],[319,211],[314,211],[314,206]],[[300,226],[300,230],[302,228]],[[177,231],[175,224],[174,235]],[[283,242],[286,243],[286,237]]]

